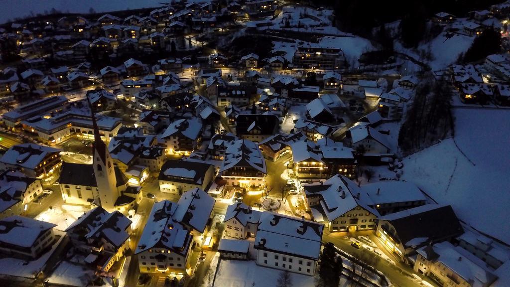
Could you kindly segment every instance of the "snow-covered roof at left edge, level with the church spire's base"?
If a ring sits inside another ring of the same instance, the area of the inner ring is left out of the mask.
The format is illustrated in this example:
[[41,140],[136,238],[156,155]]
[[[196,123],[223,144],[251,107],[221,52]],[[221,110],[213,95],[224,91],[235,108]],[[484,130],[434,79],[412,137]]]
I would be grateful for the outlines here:
[[62,150],[36,145],[35,143],[21,143],[21,145],[12,146],[0,158],[0,162],[17,165],[26,169],[35,169],[46,156],[59,153],[60,151]]

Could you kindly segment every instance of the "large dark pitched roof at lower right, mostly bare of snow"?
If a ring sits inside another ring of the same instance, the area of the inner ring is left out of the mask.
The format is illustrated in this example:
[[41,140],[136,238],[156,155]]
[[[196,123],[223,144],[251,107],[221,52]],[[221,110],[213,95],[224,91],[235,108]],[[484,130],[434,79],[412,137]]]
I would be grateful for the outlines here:
[[381,221],[389,221],[395,228],[394,235],[404,247],[414,238],[424,237],[428,238],[429,242],[434,242],[464,233],[450,205],[423,205],[388,214],[380,217],[378,221],[379,224]]

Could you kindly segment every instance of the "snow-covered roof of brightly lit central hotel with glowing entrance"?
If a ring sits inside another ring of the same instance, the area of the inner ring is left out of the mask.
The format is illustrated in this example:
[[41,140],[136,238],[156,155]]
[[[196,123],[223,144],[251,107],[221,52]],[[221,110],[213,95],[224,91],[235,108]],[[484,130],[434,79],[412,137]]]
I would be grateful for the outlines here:
[[267,174],[266,160],[262,156],[259,146],[247,139],[239,139],[227,144],[220,173],[232,169],[234,166],[251,167]]

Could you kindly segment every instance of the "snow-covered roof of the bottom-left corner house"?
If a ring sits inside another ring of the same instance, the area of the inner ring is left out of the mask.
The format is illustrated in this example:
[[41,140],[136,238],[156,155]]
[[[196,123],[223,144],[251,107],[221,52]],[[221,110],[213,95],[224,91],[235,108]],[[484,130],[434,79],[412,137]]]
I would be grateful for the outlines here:
[[53,223],[27,217],[11,216],[0,220],[0,244],[31,248],[42,232],[55,226]]

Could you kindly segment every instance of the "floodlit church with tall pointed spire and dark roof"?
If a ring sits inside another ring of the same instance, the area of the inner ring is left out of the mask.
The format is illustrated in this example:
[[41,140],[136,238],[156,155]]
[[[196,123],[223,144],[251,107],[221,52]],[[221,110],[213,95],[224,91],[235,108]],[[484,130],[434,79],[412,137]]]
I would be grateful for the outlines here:
[[129,185],[127,177],[114,166],[93,111],[92,125],[92,164],[62,163],[59,180],[62,199],[67,204],[101,206],[108,212],[127,214],[142,200],[141,187]]

